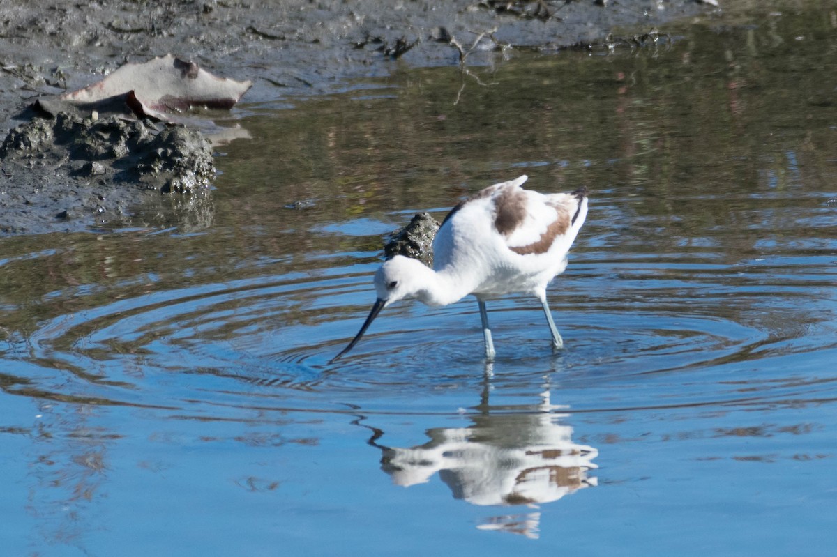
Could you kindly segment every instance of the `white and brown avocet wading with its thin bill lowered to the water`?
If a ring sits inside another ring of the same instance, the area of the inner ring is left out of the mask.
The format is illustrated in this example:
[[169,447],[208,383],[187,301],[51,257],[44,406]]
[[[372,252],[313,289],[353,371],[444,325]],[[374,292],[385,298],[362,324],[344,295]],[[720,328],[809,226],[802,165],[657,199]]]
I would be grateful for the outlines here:
[[474,294],[480,304],[485,357],[494,358],[485,300],[533,294],[541,302],[552,346],[563,346],[547,304],[547,284],[567,268],[567,252],[587,217],[587,188],[544,195],[524,190],[527,176],[486,187],[453,208],[433,242],[433,268],[396,255],[375,273],[377,300],[352,350],[381,309],[399,299],[447,305]]

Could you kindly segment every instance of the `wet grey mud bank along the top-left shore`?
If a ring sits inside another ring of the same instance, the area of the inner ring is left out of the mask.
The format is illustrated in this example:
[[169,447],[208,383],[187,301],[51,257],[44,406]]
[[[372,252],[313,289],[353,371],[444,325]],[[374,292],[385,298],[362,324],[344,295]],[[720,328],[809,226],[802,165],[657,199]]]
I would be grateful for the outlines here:
[[[244,101],[271,103],[339,90],[352,79],[386,75],[401,64],[455,65],[464,58],[466,64],[479,64],[481,58],[513,56],[521,49],[586,49],[602,45],[608,37],[633,48],[644,39],[653,40],[657,31],[665,33],[665,23],[718,9],[695,0],[291,0],[280,5],[38,0],[24,6],[3,0],[0,137],[32,120],[35,115],[27,107],[40,96],[79,89],[126,62],[163,54],[193,60],[219,76],[251,79],[254,87]],[[636,44],[629,44],[632,40]],[[185,131],[173,135],[178,134],[196,150],[193,160],[201,161],[205,174],[208,145],[185,137]],[[171,187],[171,176],[146,187],[149,181],[124,171],[118,157],[87,160],[64,152],[58,143],[44,141],[35,150],[27,147],[23,155],[6,152],[0,158],[0,233],[80,231],[128,223],[134,207],[153,206],[166,196],[185,197],[179,204],[187,213],[206,214],[211,207],[208,193],[198,192],[203,188],[178,192]],[[142,145],[151,146],[158,158],[180,156],[186,162],[172,168],[188,174],[188,154],[161,150],[150,141]],[[150,164],[144,151],[128,155],[140,165]],[[175,176],[174,183],[178,179]],[[198,183],[202,179],[199,176]]]

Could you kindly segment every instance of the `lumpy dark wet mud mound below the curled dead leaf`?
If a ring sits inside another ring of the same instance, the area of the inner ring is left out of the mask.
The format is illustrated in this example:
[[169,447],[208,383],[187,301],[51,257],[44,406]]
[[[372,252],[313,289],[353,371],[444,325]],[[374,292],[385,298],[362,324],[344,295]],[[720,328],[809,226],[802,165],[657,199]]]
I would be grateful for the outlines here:
[[10,130],[0,170],[0,207],[15,207],[0,213],[3,233],[119,221],[143,197],[207,197],[215,176],[211,146],[198,131],[64,112]]

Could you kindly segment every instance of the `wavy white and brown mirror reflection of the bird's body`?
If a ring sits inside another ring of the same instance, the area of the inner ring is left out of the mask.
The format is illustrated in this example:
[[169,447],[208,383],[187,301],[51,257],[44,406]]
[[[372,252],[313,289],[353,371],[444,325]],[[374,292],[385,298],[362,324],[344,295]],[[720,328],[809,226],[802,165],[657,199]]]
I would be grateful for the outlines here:
[[[382,469],[404,487],[427,483],[435,473],[454,498],[475,505],[549,503],[597,484],[598,450],[572,440],[573,428],[557,422],[548,391],[534,413],[471,416],[470,427],[437,427],[417,447],[384,447]],[[489,519],[480,529],[501,529],[537,537],[540,514]]]

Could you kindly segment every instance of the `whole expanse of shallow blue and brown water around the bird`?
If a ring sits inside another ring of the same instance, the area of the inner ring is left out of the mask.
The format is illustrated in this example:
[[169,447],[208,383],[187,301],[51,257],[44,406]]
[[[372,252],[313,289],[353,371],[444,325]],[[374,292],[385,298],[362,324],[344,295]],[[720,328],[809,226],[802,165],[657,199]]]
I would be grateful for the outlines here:
[[[3,551],[830,554],[818,15],[245,107],[208,222],[4,238]],[[384,233],[523,171],[593,190],[549,289],[567,350],[512,297],[487,365],[465,299],[388,308],[328,363]]]

